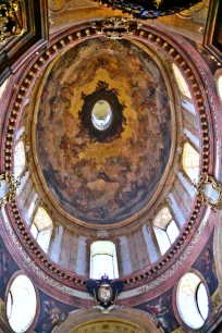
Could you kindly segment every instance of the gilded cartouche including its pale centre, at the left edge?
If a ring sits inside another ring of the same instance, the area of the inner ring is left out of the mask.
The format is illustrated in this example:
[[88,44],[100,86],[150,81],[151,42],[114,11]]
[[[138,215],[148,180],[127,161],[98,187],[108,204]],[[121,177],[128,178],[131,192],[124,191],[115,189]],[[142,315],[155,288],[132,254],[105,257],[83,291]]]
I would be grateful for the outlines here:
[[7,202],[14,200],[18,186],[20,181],[13,174],[4,173],[0,175],[0,209]]

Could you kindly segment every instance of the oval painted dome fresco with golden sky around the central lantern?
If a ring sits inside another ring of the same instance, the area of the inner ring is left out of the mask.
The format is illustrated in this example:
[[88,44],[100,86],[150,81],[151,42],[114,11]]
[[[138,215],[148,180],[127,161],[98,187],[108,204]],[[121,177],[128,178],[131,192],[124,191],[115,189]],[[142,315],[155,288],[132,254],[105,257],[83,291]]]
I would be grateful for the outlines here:
[[47,77],[38,163],[65,212],[112,224],[152,198],[171,127],[165,83],[150,55],[130,40],[89,39],[61,55]]

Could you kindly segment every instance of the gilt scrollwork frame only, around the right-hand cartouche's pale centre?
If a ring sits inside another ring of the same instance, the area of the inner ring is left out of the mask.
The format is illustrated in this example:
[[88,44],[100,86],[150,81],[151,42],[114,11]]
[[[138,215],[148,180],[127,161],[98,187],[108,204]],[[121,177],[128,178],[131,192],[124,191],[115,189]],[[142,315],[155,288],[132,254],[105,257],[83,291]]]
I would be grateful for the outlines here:
[[[205,194],[205,185],[210,184],[214,190],[219,193],[219,199],[217,202],[214,202],[211,198],[209,198]],[[205,203],[207,203],[210,208],[220,210],[222,209],[222,185],[214,180],[213,176],[210,176],[209,174],[202,174],[199,177],[198,184],[195,186],[197,189],[197,196],[200,198],[200,200]]]

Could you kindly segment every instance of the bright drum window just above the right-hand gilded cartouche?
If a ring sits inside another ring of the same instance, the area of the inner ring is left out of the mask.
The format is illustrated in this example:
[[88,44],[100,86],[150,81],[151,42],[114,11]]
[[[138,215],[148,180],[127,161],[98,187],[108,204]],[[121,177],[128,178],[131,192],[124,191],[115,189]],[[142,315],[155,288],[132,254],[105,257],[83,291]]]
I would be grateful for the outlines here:
[[182,164],[190,181],[197,182],[199,175],[199,153],[188,143],[184,145]]

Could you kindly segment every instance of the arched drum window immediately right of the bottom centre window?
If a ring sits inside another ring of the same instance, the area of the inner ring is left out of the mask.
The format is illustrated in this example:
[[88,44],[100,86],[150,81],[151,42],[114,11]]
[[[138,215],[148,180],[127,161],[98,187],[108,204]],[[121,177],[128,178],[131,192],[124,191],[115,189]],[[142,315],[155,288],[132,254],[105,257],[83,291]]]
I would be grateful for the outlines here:
[[178,227],[168,207],[161,209],[156,217],[153,221],[153,229],[160,251],[162,255],[164,255],[180,234]]

